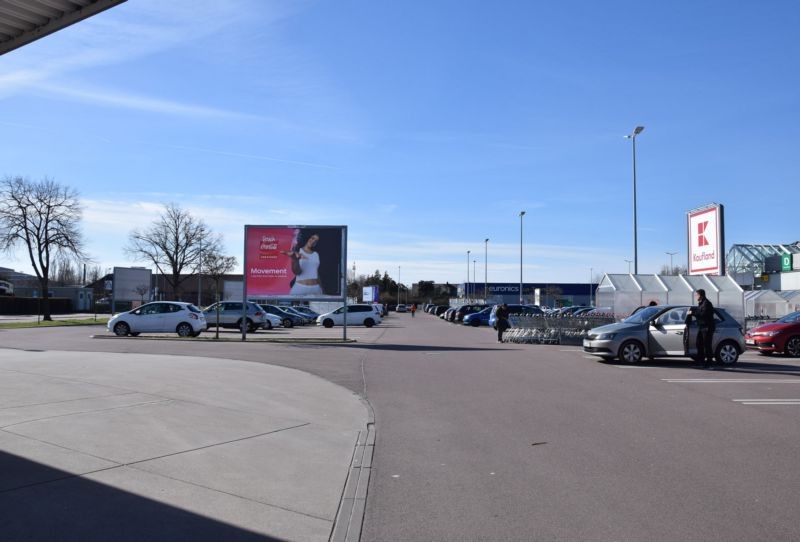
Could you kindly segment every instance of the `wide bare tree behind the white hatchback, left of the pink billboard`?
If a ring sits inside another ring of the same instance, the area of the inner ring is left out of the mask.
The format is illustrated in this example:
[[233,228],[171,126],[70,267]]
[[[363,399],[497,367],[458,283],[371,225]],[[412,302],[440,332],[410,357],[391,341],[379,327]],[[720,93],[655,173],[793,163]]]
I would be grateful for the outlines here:
[[164,213],[146,230],[133,230],[125,251],[135,260],[156,266],[181,299],[181,284],[200,268],[205,252],[219,252],[222,244],[202,219],[195,218],[174,203],[164,206]]

